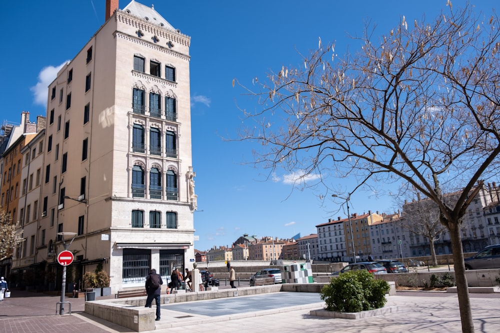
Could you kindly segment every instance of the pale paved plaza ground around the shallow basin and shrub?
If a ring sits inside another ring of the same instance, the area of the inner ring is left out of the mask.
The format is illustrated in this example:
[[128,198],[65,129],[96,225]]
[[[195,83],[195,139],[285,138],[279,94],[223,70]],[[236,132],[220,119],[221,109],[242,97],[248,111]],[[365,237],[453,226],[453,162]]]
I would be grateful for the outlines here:
[[[59,298],[12,291],[11,298],[0,302],[0,332],[131,332],[83,313],[83,298],[66,299],[71,302],[72,315],[56,315]],[[471,294],[470,301],[476,332],[500,332],[500,294]],[[161,320],[150,332],[461,332],[456,294],[397,292],[387,298],[387,305],[397,306],[398,311],[347,320],[310,316],[310,310],[324,306],[319,295],[312,293],[280,292],[167,304],[161,306]],[[65,310],[67,313],[67,305]]]

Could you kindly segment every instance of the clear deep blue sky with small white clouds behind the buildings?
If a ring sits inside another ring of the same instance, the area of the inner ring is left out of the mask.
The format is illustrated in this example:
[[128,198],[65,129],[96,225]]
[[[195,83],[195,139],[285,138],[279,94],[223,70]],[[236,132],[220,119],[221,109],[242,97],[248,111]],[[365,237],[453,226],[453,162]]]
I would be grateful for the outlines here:
[[[120,0],[123,8],[129,0]],[[348,35],[359,35],[365,22],[376,24],[378,35],[408,22],[435,17],[446,0],[420,1],[170,1],[154,4],[174,28],[191,37],[190,81],[193,170],[198,212],[194,213],[198,250],[229,245],[244,233],[289,238],[315,233],[328,218],[345,217],[340,202],[321,189],[293,185],[293,175],[253,168],[252,143],[237,138],[242,114],[238,107],[258,107],[244,95],[235,78],[251,86],[282,66],[300,65],[307,54],[335,41],[335,52],[356,49]],[[462,6],[465,1],[451,1]],[[494,0],[470,0],[476,12],[489,17]],[[104,22],[105,0],[2,1],[3,52],[0,61],[2,105],[0,121],[18,123],[20,112],[30,118],[45,115],[46,87],[57,67],[70,60]],[[299,170],[297,170],[298,172]],[[339,179],[349,189],[352,180]],[[389,191],[390,189],[381,188]],[[350,212],[392,213],[394,199],[360,192],[351,196]]]

